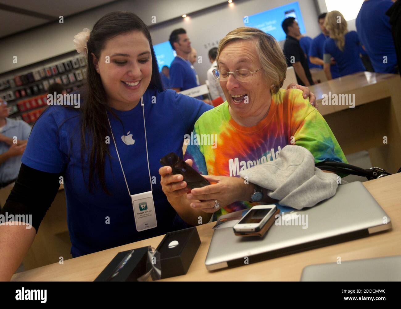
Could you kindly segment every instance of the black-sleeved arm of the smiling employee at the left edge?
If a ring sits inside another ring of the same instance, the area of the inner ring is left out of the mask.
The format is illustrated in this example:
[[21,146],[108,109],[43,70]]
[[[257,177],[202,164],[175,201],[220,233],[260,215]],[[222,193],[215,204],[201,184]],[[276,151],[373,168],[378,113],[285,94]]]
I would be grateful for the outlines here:
[[0,215],[5,220],[13,215],[14,218],[27,218],[28,222],[18,220],[24,225],[0,225],[0,280],[10,280],[20,266],[59,187],[58,173],[46,173],[21,165],[14,188]]

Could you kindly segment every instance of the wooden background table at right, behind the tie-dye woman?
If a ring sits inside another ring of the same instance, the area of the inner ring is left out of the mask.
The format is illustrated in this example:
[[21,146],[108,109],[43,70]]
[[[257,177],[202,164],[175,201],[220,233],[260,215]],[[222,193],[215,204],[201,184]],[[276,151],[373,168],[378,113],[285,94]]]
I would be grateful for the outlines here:
[[[310,90],[344,154],[368,150],[373,166],[397,172],[401,167],[399,75],[360,72],[313,85]],[[329,94],[355,95],[355,108],[323,105],[322,98]]]

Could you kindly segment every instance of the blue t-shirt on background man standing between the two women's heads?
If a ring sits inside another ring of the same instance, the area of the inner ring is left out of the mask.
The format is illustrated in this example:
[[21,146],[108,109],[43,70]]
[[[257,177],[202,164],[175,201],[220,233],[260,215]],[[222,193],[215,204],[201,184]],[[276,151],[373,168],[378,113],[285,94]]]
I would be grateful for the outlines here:
[[[180,91],[199,86],[198,75],[193,65],[178,56],[170,65],[170,88],[180,88]],[[202,100],[202,96],[196,97]]]

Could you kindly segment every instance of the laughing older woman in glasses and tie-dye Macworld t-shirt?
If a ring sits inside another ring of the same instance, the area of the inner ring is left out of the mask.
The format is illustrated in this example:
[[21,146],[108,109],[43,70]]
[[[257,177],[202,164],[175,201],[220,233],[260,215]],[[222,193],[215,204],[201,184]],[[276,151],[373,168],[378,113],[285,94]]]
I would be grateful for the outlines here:
[[326,121],[302,91],[280,89],[287,65],[271,35],[249,27],[231,31],[219,43],[217,64],[214,74],[227,101],[196,121],[185,154],[192,167],[217,184],[190,194],[181,189],[177,203],[218,211],[217,216],[271,203],[267,194],[250,203],[255,186],[239,178],[239,172],[276,160],[288,144],[307,148],[316,163],[346,162]]

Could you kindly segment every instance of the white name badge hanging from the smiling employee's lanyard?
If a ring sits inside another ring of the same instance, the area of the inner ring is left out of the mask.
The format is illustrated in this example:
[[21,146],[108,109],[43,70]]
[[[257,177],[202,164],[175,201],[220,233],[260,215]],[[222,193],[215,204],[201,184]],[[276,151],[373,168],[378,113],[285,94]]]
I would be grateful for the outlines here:
[[156,211],[152,191],[131,195],[135,225],[138,232],[156,228]]

